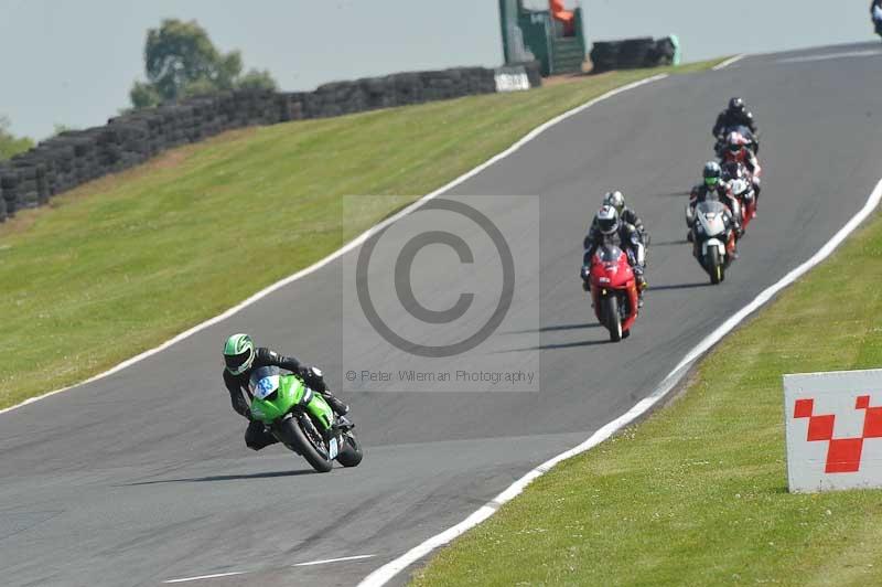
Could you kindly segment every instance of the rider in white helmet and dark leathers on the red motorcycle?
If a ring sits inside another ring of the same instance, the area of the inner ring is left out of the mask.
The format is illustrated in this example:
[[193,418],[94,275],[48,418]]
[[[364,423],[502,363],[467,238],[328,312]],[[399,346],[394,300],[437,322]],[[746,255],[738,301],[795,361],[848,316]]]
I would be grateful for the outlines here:
[[582,289],[585,291],[590,289],[591,258],[599,247],[607,244],[616,245],[627,255],[627,263],[634,270],[634,279],[637,281],[638,306],[643,308],[643,292],[646,289],[646,279],[643,275],[646,265],[643,237],[633,224],[620,222],[619,212],[609,204],[604,204],[594,215],[583,243],[585,254],[580,273]]

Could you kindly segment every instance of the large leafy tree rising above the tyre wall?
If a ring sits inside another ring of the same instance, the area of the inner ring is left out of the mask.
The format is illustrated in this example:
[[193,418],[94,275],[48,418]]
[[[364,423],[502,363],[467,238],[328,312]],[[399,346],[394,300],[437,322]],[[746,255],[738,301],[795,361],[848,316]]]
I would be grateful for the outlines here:
[[147,82],[136,82],[129,92],[135,108],[223,89],[276,88],[268,71],[241,75],[241,54],[220,53],[196,21],[166,19],[159,29],[150,29],[144,71]]

